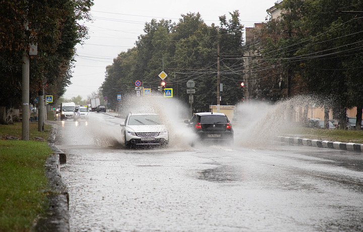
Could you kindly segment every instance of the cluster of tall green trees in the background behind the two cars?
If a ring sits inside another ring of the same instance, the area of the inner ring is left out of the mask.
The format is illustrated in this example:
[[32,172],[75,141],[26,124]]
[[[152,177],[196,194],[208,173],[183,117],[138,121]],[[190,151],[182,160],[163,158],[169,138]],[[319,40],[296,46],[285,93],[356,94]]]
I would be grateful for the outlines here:
[[[173,88],[173,96],[189,102],[186,83],[196,82],[194,106],[208,111],[216,104],[216,53],[218,40],[223,54],[243,52],[243,26],[239,24],[238,11],[230,14],[231,20],[223,16],[220,27],[208,26],[199,13],[181,15],[178,23],[153,19],[145,24],[145,34],[140,35],[136,47],[120,53],[113,64],[106,68],[102,93],[108,102],[116,105],[116,94],[133,93],[136,80],[142,80],[145,88],[157,91],[160,84],[158,74],[164,68],[168,77],[167,88]],[[242,61],[224,60],[221,63],[221,83],[224,93],[221,104],[235,104],[243,96],[239,83],[243,70]],[[233,70],[229,67],[234,66]],[[174,69],[175,72],[167,69]],[[188,71],[193,70],[193,71]]]

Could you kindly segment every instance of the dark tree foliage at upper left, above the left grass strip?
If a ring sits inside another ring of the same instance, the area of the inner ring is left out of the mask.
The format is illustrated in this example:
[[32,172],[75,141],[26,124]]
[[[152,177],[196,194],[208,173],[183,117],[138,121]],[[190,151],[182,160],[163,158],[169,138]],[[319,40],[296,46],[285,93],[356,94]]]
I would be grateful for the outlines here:
[[[93,0],[9,1],[0,0],[0,102],[19,106],[22,99],[22,53],[37,44],[38,54],[30,56],[30,103],[42,91],[55,99],[71,83],[75,45],[87,36],[78,23],[89,20]],[[27,22],[25,28],[24,22]],[[9,97],[12,96],[12,97]]]

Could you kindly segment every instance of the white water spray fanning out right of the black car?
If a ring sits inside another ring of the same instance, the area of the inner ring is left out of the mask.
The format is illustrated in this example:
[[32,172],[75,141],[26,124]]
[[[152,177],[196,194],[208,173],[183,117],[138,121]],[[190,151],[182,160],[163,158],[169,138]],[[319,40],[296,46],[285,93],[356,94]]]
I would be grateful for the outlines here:
[[311,105],[318,100],[317,97],[304,95],[273,105],[253,101],[238,104],[235,110],[235,144],[265,149],[276,144],[276,136],[299,134],[298,126],[301,125],[304,110],[307,110],[308,104]]

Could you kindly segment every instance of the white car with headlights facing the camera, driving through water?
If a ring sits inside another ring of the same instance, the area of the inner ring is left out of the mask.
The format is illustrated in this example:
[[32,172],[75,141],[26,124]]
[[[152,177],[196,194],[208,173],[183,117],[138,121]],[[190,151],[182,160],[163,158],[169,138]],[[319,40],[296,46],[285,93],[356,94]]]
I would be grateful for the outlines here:
[[126,148],[136,146],[167,146],[168,131],[153,113],[129,113],[122,127]]

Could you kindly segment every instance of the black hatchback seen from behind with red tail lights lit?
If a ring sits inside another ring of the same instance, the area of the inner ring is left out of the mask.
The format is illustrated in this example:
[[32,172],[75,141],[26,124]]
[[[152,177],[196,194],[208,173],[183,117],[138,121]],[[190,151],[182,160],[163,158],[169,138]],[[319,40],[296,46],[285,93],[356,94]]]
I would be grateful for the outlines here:
[[224,113],[195,113],[190,121],[184,122],[201,140],[233,143],[233,128]]

